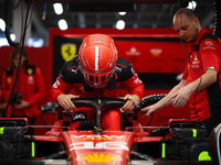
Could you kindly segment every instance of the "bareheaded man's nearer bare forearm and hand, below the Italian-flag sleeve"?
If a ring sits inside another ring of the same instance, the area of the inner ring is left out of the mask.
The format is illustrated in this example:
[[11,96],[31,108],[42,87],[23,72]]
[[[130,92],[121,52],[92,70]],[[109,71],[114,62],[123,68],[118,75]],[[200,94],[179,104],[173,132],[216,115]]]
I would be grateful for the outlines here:
[[200,78],[181,88],[175,96],[176,98],[172,102],[173,108],[183,107],[192,92],[206,89],[214,84],[217,81],[217,70],[209,69]]

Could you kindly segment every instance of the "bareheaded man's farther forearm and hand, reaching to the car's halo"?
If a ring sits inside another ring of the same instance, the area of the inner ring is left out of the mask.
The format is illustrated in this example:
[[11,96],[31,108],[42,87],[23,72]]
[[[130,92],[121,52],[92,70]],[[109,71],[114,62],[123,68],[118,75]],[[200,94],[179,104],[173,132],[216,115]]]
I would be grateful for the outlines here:
[[155,105],[143,108],[141,111],[147,112],[146,116],[149,116],[154,112],[157,112],[159,109],[170,105],[173,101],[173,98],[176,94],[179,91],[179,89],[181,89],[186,85],[187,85],[187,80],[181,79],[180,82],[177,86],[175,86],[166,97],[164,97],[161,100],[159,100]]

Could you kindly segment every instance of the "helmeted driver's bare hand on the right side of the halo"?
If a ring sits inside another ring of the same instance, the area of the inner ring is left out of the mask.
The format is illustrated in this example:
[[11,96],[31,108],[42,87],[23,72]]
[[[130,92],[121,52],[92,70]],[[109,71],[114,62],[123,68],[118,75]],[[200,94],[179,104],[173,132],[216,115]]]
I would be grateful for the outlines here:
[[139,103],[139,97],[137,95],[126,95],[124,100],[127,100],[127,102],[123,106],[123,111],[131,111],[135,109],[135,106]]

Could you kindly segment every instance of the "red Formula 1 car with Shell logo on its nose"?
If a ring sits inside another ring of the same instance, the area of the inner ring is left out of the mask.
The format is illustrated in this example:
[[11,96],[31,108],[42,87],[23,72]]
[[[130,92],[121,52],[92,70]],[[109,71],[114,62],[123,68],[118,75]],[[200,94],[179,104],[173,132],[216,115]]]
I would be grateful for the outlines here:
[[[164,127],[148,127],[151,117],[145,117],[139,110],[164,96],[148,96],[134,113],[123,112],[122,131],[102,130],[99,117],[103,111],[123,107],[125,100],[122,98],[73,99],[76,107],[88,107],[96,112],[95,124],[85,121],[82,125],[80,123],[77,131],[70,130],[71,113],[60,106],[42,111],[42,116],[55,114],[57,120],[53,125],[29,125],[25,118],[1,118],[0,164],[220,164],[221,125],[213,130],[210,139],[198,123],[187,119],[170,119]],[[50,131],[44,135],[24,135],[30,128],[49,128]]]

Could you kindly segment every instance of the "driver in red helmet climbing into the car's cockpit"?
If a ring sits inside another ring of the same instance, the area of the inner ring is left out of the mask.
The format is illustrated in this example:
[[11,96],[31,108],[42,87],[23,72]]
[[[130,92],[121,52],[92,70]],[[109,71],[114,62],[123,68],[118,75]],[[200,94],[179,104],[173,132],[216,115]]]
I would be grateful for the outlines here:
[[[129,95],[122,107],[134,110],[144,95],[144,84],[134,72],[133,65],[117,56],[114,40],[105,34],[91,34],[83,40],[78,55],[65,63],[52,86],[52,98],[65,110],[73,110],[71,129],[81,121],[95,120],[95,112],[88,108],[76,108],[72,98],[86,96],[118,97],[123,85]],[[112,109],[102,113],[102,129],[120,130],[120,110]]]

